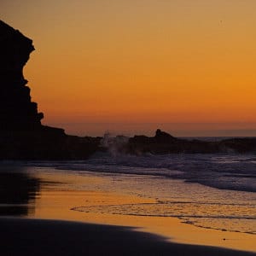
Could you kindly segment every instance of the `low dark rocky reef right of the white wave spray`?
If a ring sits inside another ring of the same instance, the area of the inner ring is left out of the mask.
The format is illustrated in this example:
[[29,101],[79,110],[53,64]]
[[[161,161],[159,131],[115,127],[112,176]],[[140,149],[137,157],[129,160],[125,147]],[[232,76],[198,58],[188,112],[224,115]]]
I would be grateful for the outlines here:
[[189,141],[172,137],[158,129],[154,137],[131,137],[124,152],[128,154],[248,153],[256,152],[256,138],[232,138],[220,142]]

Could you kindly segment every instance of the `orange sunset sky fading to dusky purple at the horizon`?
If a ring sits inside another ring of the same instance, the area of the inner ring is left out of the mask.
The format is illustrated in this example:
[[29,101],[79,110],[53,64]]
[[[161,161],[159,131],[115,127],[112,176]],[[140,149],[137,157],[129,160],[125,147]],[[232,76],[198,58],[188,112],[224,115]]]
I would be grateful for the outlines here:
[[68,133],[256,136],[255,0],[1,0],[24,73]]

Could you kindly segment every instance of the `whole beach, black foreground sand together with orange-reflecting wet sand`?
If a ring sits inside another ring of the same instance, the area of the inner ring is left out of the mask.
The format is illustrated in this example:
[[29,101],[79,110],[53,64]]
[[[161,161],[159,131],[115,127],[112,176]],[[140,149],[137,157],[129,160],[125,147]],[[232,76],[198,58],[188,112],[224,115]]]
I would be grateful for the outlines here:
[[[109,191],[113,180],[105,174],[26,167],[4,175],[9,195],[3,199],[14,204],[2,207],[1,255],[255,255],[251,234],[202,229],[178,218],[77,211],[154,202],[117,186]],[[20,194],[13,192],[18,185]]]

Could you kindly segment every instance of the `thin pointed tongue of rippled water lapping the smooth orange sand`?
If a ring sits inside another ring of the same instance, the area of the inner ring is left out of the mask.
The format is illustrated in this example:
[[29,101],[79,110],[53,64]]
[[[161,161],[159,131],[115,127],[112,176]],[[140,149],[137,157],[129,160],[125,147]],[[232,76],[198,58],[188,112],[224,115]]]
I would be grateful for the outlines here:
[[256,235],[253,205],[165,201],[156,203],[74,207],[74,211],[120,215],[176,217],[202,228],[229,230]]

